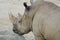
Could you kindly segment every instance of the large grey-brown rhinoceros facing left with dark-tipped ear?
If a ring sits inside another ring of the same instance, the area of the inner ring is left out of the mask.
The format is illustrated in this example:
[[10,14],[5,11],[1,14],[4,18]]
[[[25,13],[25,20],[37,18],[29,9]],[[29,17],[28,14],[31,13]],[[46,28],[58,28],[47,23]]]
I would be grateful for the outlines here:
[[24,3],[25,12],[18,17],[10,15],[13,31],[19,35],[33,32],[35,40],[60,40],[60,7],[44,0]]

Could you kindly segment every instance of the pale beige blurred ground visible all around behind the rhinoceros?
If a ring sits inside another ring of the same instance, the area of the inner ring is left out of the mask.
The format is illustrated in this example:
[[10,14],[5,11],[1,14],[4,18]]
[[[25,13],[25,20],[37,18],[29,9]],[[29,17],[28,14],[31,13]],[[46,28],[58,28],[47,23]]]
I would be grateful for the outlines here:
[[[60,0],[45,0],[55,3],[60,6]],[[9,19],[9,13],[11,12],[14,16],[18,13],[24,14],[23,2],[30,4],[30,0],[0,0],[0,30],[12,30],[12,23]],[[25,35],[26,39],[32,40],[34,38],[32,32]]]

